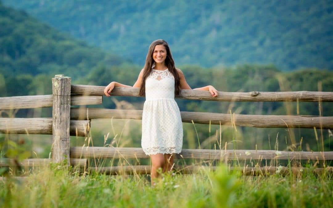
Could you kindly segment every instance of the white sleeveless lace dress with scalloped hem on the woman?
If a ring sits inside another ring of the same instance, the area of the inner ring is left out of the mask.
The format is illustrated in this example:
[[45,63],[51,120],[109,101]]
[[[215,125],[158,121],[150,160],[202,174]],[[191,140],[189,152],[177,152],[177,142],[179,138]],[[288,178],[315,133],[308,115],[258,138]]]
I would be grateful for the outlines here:
[[174,100],[174,78],[166,70],[152,69],[146,79],[141,146],[146,155],[180,153],[183,127]]

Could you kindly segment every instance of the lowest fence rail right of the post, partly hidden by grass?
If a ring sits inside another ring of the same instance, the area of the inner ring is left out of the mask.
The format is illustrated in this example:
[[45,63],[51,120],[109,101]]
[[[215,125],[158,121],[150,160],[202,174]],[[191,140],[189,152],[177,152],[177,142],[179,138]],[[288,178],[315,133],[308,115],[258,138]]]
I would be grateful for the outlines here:
[[[228,171],[241,171],[243,175],[248,176],[255,176],[255,175],[272,175],[276,173],[278,170],[277,167],[274,166],[264,166],[264,167],[226,167]],[[181,165],[175,165],[174,170],[176,173],[182,173],[182,174],[192,174],[192,173],[198,173],[198,172],[206,172],[208,170],[216,170],[216,166],[181,166]],[[321,174],[323,171],[330,171],[333,170],[330,168],[324,169],[324,168],[304,168],[304,167],[281,167],[279,174],[286,175],[289,173],[289,171],[292,171],[294,174],[298,172],[312,172],[316,174]],[[107,175],[129,175],[129,174],[150,174],[151,173],[151,166],[150,165],[131,165],[131,166],[113,166],[113,167],[90,167],[88,168],[88,171],[90,172],[99,172],[104,173]]]

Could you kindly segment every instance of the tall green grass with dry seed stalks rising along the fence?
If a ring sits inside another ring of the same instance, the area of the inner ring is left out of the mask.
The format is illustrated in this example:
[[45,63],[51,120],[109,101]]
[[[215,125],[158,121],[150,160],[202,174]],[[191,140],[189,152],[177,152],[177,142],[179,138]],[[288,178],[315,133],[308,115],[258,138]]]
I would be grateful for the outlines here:
[[[240,142],[237,135],[241,130],[237,130],[231,110],[230,117],[232,123],[229,128],[231,134],[229,142],[226,138],[222,140],[221,125],[219,132],[216,129],[215,136],[210,135],[211,125],[209,125],[209,137],[205,140],[199,138],[200,132],[192,121],[198,143],[191,140],[193,144],[190,143],[188,146],[199,149],[209,146],[220,151],[226,150],[228,146],[236,150],[237,142]],[[124,138],[124,134],[128,134],[129,129],[133,128],[127,121],[124,127],[119,127],[117,124],[115,128],[113,119],[110,125],[105,125],[112,129],[112,132],[105,134],[103,146],[122,147],[133,143],[130,136]],[[331,207],[333,204],[332,172],[328,171],[329,168],[321,174],[313,174],[311,171],[314,167],[321,165],[327,167],[329,164],[320,164],[319,160],[308,160],[304,163],[295,158],[286,162],[279,160],[281,149],[295,151],[298,145],[298,150],[302,151],[302,138],[299,143],[296,143],[294,132],[289,130],[287,124],[286,127],[289,138],[285,137],[285,143],[279,143],[278,134],[276,135],[274,146],[276,157],[270,161],[263,160],[262,157],[238,161],[236,154],[233,158],[229,158],[231,162],[228,159],[208,162],[180,159],[177,162],[182,165],[199,164],[203,167],[196,174],[162,174],[162,178],[154,186],[151,185],[150,177],[147,175],[110,176],[95,172],[81,172],[76,167],[66,167],[66,161],[64,164],[51,164],[41,169],[30,169],[28,172],[19,170],[19,167],[16,167],[17,170],[9,167],[6,174],[3,174],[6,175],[5,181],[0,183],[0,207]],[[138,129],[137,126],[134,128]],[[228,127],[223,127],[223,130],[226,128]],[[115,129],[120,132],[116,132]],[[92,132],[90,131],[89,136],[82,142],[83,147],[94,145]],[[318,151],[321,147],[324,151],[322,131],[321,139],[316,129],[314,132]],[[16,155],[15,152],[12,154],[13,157],[19,155],[26,157],[24,149],[17,148],[20,146],[13,144],[8,137],[4,140],[7,146],[13,147],[8,147],[6,150],[17,150]],[[6,154],[5,156],[10,156],[10,152],[7,151]],[[0,157],[2,156],[4,156],[3,152]],[[138,158],[128,160],[96,157],[89,162],[90,166],[96,167],[96,170],[103,166],[145,163]],[[218,166],[216,171],[213,172],[207,168],[215,164]],[[231,165],[238,168],[238,171],[229,171]],[[282,176],[280,165],[289,168],[288,175]],[[243,176],[239,171],[245,167],[262,166],[278,166],[278,168],[272,175],[262,173],[259,176]],[[291,169],[294,166],[301,169],[292,172]],[[303,167],[309,168],[310,171],[303,171]],[[19,174],[28,175],[28,177],[21,179],[13,177]]]

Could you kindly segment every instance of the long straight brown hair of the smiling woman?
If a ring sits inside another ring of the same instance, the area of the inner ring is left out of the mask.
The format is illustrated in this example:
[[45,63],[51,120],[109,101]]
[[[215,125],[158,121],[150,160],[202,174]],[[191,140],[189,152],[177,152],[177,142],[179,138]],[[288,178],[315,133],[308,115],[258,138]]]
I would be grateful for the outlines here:
[[179,95],[180,94],[180,81],[179,81],[179,75],[176,71],[176,67],[174,66],[174,61],[172,59],[171,51],[170,48],[165,40],[159,39],[154,41],[148,50],[147,58],[146,58],[146,63],[144,67],[144,74],[142,78],[142,83],[140,87],[140,92],[139,96],[146,96],[146,79],[149,76],[150,72],[152,71],[152,68],[155,64],[155,61],[153,59],[153,53],[156,45],[163,45],[166,47],[166,60],[165,60],[165,65],[168,68],[169,72],[173,75],[174,77],[174,94]]

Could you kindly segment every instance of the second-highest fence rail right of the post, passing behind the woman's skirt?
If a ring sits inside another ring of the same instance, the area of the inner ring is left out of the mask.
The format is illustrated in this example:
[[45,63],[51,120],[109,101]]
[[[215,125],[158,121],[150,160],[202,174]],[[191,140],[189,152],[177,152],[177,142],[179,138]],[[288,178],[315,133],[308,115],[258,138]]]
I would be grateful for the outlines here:
[[[71,108],[71,119],[94,118],[125,118],[142,119],[142,110],[101,109],[101,108]],[[306,115],[241,115],[209,112],[180,112],[182,122],[250,126],[260,128],[333,128],[331,116]],[[88,117],[87,117],[88,116]]]

